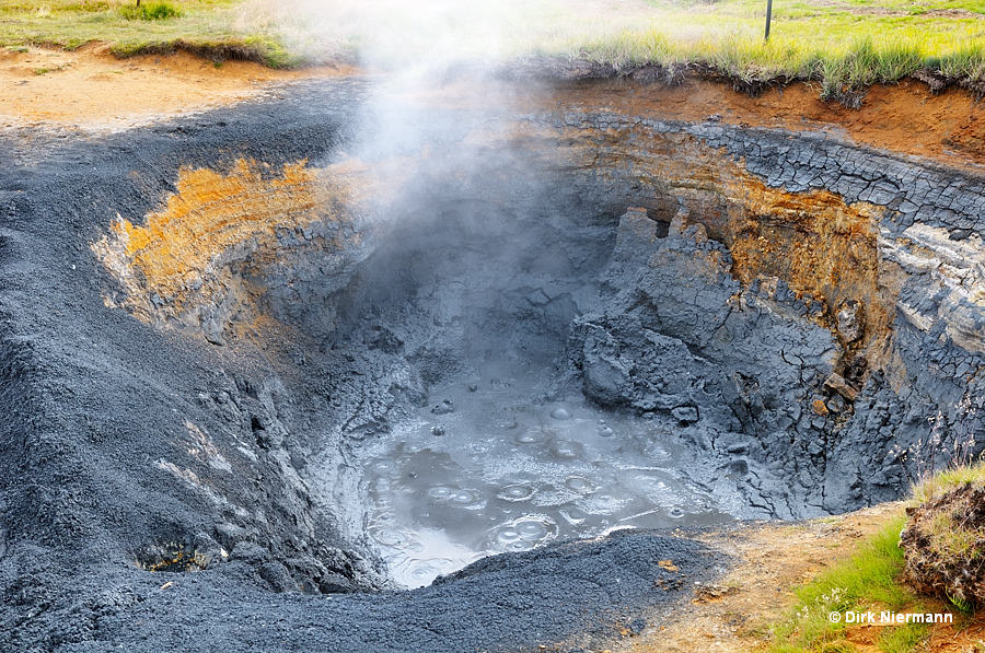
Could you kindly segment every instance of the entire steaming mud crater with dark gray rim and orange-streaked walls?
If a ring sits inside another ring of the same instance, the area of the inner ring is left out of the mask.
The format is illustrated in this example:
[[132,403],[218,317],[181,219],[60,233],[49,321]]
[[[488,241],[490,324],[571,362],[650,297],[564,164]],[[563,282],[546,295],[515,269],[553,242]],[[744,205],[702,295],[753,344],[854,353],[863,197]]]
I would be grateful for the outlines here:
[[645,78],[4,131],[0,650],[629,650],[978,430],[981,135]]

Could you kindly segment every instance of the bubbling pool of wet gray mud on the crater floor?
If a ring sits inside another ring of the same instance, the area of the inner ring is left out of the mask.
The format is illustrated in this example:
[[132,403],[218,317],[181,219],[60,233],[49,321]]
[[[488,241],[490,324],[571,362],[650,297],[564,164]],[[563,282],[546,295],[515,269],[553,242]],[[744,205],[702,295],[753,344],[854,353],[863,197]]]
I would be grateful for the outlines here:
[[663,422],[533,389],[525,371],[447,387],[362,448],[366,533],[396,583],[557,538],[731,520]]

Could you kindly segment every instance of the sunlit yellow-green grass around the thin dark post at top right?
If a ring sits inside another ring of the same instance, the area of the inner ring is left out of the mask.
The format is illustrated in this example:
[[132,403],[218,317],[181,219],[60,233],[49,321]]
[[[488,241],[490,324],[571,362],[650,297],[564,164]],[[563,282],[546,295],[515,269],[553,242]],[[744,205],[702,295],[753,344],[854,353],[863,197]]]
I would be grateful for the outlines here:
[[[850,101],[871,84],[895,83],[920,69],[954,82],[985,80],[985,21],[978,15],[985,2],[780,3],[769,42],[763,39],[760,0],[651,4],[659,19],[648,28],[572,42],[570,54],[616,68],[696,62],[739,88],[818,82],[824,100]],[[970,13],[940,14],[955,10]]]

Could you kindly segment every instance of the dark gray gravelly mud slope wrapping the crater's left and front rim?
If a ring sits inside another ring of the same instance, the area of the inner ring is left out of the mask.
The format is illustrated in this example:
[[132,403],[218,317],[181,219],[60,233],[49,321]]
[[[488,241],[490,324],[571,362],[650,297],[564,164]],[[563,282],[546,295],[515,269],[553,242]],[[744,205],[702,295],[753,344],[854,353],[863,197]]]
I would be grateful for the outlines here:
[[[279,102],[105,138],[7,137],[0,649],[437,652],[568,641],[576,650],[618,627],[639,630],[645,608],[686,599],[681,574],[708,578],[721,559],[685,539],[633,533],[508,553],[432,587],[387,591],[299,477],[298,452],[372,396],[348,369],[332,375],[333,357],[347,359],[323,347],[326,360],[282,383],[275,370],[293,364],[294,350],[217,347],[106,308],[112,281],[89,243],[117,211],[154,209],[184,165],[328,158],[351,141],[362,92],[358,82],[296,89]],[[358,322],[361,312],[346,314]],[[389,362],[374,361],[371,346],[356,349],[363,370]],[[317,358],[318,345],[305,354]],[[186,417],[230,459],[240,436],[256,452],[252,464],[233,462],[235,475],[197,470],[221,499],[155,464],[174,457]],[[382,429],[359,424],[349,430],[359,438]],[[266,435],[275,428],[282,446]],[[211,564],[196,573],[135,564],[176,551],[195,556],[192,568]],[[681,571],[657,565],[665,559]],[[654,591],[661,579],[676,588]]]

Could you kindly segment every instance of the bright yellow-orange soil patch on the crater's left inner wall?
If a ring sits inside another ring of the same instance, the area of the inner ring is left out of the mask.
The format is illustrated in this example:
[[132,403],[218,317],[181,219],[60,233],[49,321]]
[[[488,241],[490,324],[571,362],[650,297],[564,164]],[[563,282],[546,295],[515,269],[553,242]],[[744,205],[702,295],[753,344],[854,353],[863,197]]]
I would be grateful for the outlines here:
[[[355,189],[373,188],[362,173],[351,162],[315,168],[299,161],[277,170],[240,160],[224,172],[183,168],[160,211],[138,225],[120,215],[92,249],[127,291],[120,301],[136,317],[197,328],[205,307],[211,315],[232,295],[250,294],[232,281],[231,266],[247,258],[254,266],[283,265],[271,252],[289,234],[299,247],[341,247],[338,231],[358,212]],[[347,237],[349,246],[359,238]],[[104,301],[117,305],[109,295]]]

